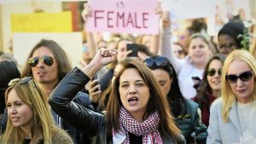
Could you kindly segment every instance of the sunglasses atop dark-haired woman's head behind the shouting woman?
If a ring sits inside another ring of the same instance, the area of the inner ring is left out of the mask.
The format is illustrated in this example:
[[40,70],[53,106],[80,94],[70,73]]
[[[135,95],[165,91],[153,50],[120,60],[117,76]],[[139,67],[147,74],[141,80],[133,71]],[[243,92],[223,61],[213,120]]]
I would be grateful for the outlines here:
[[147,58],[144,60],[144,64],[148,66],[148,68],[157,68],[157,67],[163,67],[163,66],[170,66],[170,62],[168,59],[163,57],[157,57],[155,59],[153,58]]

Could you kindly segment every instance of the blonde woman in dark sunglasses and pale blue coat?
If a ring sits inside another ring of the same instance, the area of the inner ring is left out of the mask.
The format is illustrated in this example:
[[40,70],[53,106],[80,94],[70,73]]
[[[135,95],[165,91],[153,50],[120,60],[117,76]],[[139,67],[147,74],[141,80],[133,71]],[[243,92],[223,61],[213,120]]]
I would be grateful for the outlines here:
[[221,97],[212,103],[207,143],[256,143],[256,61],[234,50],[224,61]]

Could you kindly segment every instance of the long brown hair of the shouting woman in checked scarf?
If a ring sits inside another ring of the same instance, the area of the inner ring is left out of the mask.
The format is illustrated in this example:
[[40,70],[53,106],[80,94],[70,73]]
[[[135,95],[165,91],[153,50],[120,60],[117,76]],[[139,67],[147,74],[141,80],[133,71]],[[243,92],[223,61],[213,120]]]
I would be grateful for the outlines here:
[[113,81],[113,89],[111,91],[108,101],[106,114],[108,136],[112,135],[112,130],[121,130],[119,125],[119,110],[122,106],[122,102],[120,100],[119,94],[119,78],[126,69],[135,68],[143,78],[143,81],[148,86],[150,92],[150,98],[147,104],[147,111],[145,113],[150,114],[154,111],[159,112],[159,130],[173,135],[178,141],[180,130],[178,130],[177,125],[174,122],[174,118],[172,118],[168,102],[166,101],[165,96],[160,90],[160,84],[158,83],[156,78],[154,78],[154,73],[151,72],[147,66],[143,65],[142,62],[138,62],[136,60],[125,61],[122,66],[122,69],[119,71],[118,75]]

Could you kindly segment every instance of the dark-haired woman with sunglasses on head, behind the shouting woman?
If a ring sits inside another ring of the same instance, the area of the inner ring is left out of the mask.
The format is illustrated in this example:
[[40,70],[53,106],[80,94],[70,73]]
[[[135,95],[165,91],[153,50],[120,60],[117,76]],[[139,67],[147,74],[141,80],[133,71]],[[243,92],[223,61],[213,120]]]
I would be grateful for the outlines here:
[[207,127],[201,124],[198,105],[183,97],[177,82],[177,74],[170,61],[166,57],[157,55],[144,60],[144,64],[152,70],[159,82],[177,126],[185,136],[187,143],[195,141],[197,144],[206,143]]

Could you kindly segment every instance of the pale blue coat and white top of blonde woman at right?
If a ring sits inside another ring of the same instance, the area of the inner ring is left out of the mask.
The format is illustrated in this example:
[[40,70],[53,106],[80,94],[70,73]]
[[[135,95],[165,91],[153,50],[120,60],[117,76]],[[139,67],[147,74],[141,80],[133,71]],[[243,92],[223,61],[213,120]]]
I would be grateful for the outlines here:
[[[222,104],[222,97],[219,97],[212,103],[210,121],[207,129],[207,144],[255,144],[256,101],[253,101],[253,104],[247,106],[238,106],[240,104],[234,101],[230,107],[227,123],[225,123],[222,118]],[[242,118],[244,116],[246,116],[246,118]]]

